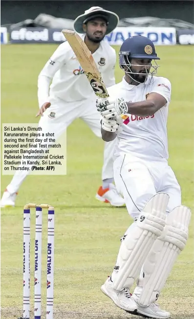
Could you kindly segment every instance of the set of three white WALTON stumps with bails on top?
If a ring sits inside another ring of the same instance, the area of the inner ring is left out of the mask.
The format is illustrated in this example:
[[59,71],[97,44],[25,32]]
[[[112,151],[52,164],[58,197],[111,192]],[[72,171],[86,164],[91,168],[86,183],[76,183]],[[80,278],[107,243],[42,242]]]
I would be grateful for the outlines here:
[[23,207],[23,319],[30,319],[30,208],[36,208],[34,319],[41,319],[41,272],[43,208],[48,209],[46,319],[53,319],[54,207],[27,204]]

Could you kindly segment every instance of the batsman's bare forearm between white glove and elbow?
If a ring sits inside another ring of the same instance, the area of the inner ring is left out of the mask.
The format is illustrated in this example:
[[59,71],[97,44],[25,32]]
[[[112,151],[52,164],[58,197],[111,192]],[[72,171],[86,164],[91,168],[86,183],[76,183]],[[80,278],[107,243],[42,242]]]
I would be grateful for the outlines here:
[[130,103],[127,102],[128,113],[139,115],[139,116],[148,116],[152,115],[157,111],[156,105],[152,100],[146,100],[142,102]]

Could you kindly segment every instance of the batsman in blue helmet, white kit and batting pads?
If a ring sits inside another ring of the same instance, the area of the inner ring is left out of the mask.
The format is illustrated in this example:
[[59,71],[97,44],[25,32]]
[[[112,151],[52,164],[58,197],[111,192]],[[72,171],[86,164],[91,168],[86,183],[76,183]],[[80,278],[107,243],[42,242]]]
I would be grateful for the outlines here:
[[[125,76],[108,89],[108,99],[97,101],[103,139],[119,140],[114,181],[134,218],[101,290],[129,313],[167,319],[171,314],[155,301],[186,245],[191,211],[181,205],[180,186],[168,165],[171,83],[154,76],[155,60],[159,58],[151,40],[127,39],[119,52]],[[115,116],[122,116],[121,124]]]

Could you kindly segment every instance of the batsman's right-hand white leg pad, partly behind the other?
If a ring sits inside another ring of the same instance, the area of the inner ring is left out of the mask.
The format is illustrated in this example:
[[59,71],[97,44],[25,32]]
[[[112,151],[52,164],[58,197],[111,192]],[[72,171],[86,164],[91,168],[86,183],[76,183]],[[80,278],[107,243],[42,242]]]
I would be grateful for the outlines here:
[[191,211],[186,206],[175,207],[167,216],[164,231],[153,244],[133,292],[141,294],[141,306],[157,300],[178,254],[186,245],[190,218]]

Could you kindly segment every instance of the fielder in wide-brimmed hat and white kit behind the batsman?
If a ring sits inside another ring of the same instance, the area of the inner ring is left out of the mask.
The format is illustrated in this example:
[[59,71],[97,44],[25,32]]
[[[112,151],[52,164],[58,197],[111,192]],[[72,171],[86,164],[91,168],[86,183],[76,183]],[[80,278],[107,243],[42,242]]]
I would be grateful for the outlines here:
[[[83,34],[82,37],[107,87],[115,84],[116,53],[102,40],[118,22],[119,18],[115,13],[101,7],[91,7],[74,21],[74,28]],[[50,126],[53,130],[54,126],[57,138],[73,120],[82,118],[97,137],[102,137],[100,114],[96,110],[96,95],[68,42],[56,49],[41,71],[38,78],[38,100],[40,111],[37,115],[42,115],[39,122],[43,128],[42,133],[48,132]],[[105,143],[103,184],[96,198],[113,206],[122,206],[124,199],[112,183],[114,145],[115,141]],[[17,191],[27,174],[27,171],[17,171],[3,193],[1,207],[15,205]]]

